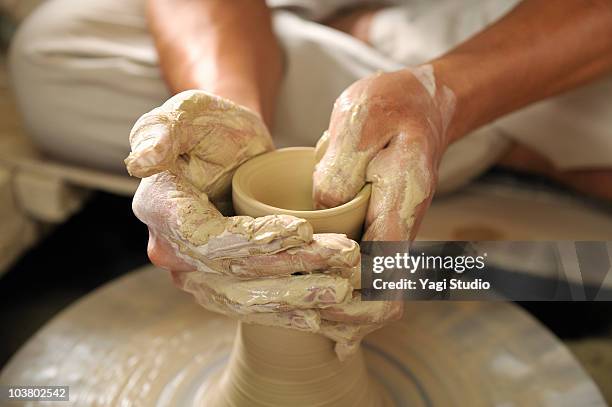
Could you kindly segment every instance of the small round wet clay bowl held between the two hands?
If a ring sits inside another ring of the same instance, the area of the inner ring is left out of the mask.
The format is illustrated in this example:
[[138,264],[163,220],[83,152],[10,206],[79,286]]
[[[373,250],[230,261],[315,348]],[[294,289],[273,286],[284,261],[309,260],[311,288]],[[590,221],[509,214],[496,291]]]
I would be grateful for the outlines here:
[[315,210],[312,147],[290,147],[257,156],[242,164],[232,180],[238,215],[293,215],[308,220],[316,233],[344,233],[359,240],[370,199],[367,184],[353,200],[335,208]]

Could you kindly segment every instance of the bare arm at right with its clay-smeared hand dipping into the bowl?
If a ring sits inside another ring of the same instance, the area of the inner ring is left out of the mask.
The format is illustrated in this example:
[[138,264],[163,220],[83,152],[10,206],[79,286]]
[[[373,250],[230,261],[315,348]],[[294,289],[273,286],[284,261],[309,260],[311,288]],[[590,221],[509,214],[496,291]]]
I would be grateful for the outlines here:
[[315,200],[336,206],[371,182],[364,239],[413,239],[451,142],[611,71],[612,2],[526,0],[440,58],[343,92],[318,146]]

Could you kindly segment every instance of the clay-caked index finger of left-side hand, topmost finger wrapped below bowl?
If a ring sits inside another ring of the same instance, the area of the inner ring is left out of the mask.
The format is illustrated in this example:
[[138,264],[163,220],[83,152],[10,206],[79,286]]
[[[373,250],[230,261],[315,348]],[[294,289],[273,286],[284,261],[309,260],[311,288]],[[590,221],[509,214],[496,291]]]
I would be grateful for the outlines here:
[[225,218],[206,194],[169,172],[143,179],[132,207],[177,257],[203,271],[218,271],[209,265],[216,259],[275,253],[312,240],[312,226],[293,216]]

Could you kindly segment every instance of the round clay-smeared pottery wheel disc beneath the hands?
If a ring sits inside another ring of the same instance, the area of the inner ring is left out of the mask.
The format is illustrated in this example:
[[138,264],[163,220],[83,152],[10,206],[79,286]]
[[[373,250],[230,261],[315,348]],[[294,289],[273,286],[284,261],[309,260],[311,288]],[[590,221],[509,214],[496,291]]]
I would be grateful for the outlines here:
[[[0,384],[68,385],[76,406],[190,406],[226,363],[236,326],[146,267],[56,316]],[[513,304],[408,303],[363,346],[398,406],[606,405],[563,344]]]

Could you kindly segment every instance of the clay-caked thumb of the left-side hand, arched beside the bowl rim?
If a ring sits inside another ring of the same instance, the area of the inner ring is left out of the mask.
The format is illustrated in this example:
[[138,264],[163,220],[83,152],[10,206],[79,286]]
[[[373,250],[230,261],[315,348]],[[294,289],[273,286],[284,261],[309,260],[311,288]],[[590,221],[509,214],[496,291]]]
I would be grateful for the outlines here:
[[[132,152],[125,160],[128,171],[141,178],[164,170],[176,172],[178,158],[202,141],[205,143],[196,153],[200,160],[210,163],[201,168],[203,184],[224,173],[228,163],[272,148],[269,133],[255,113],[219,96],[190,90],[137,120],[130,133]],[[187,172],[193,173],[193,163],[188,167]],[[193,180],[198,175],[194,174]]]

